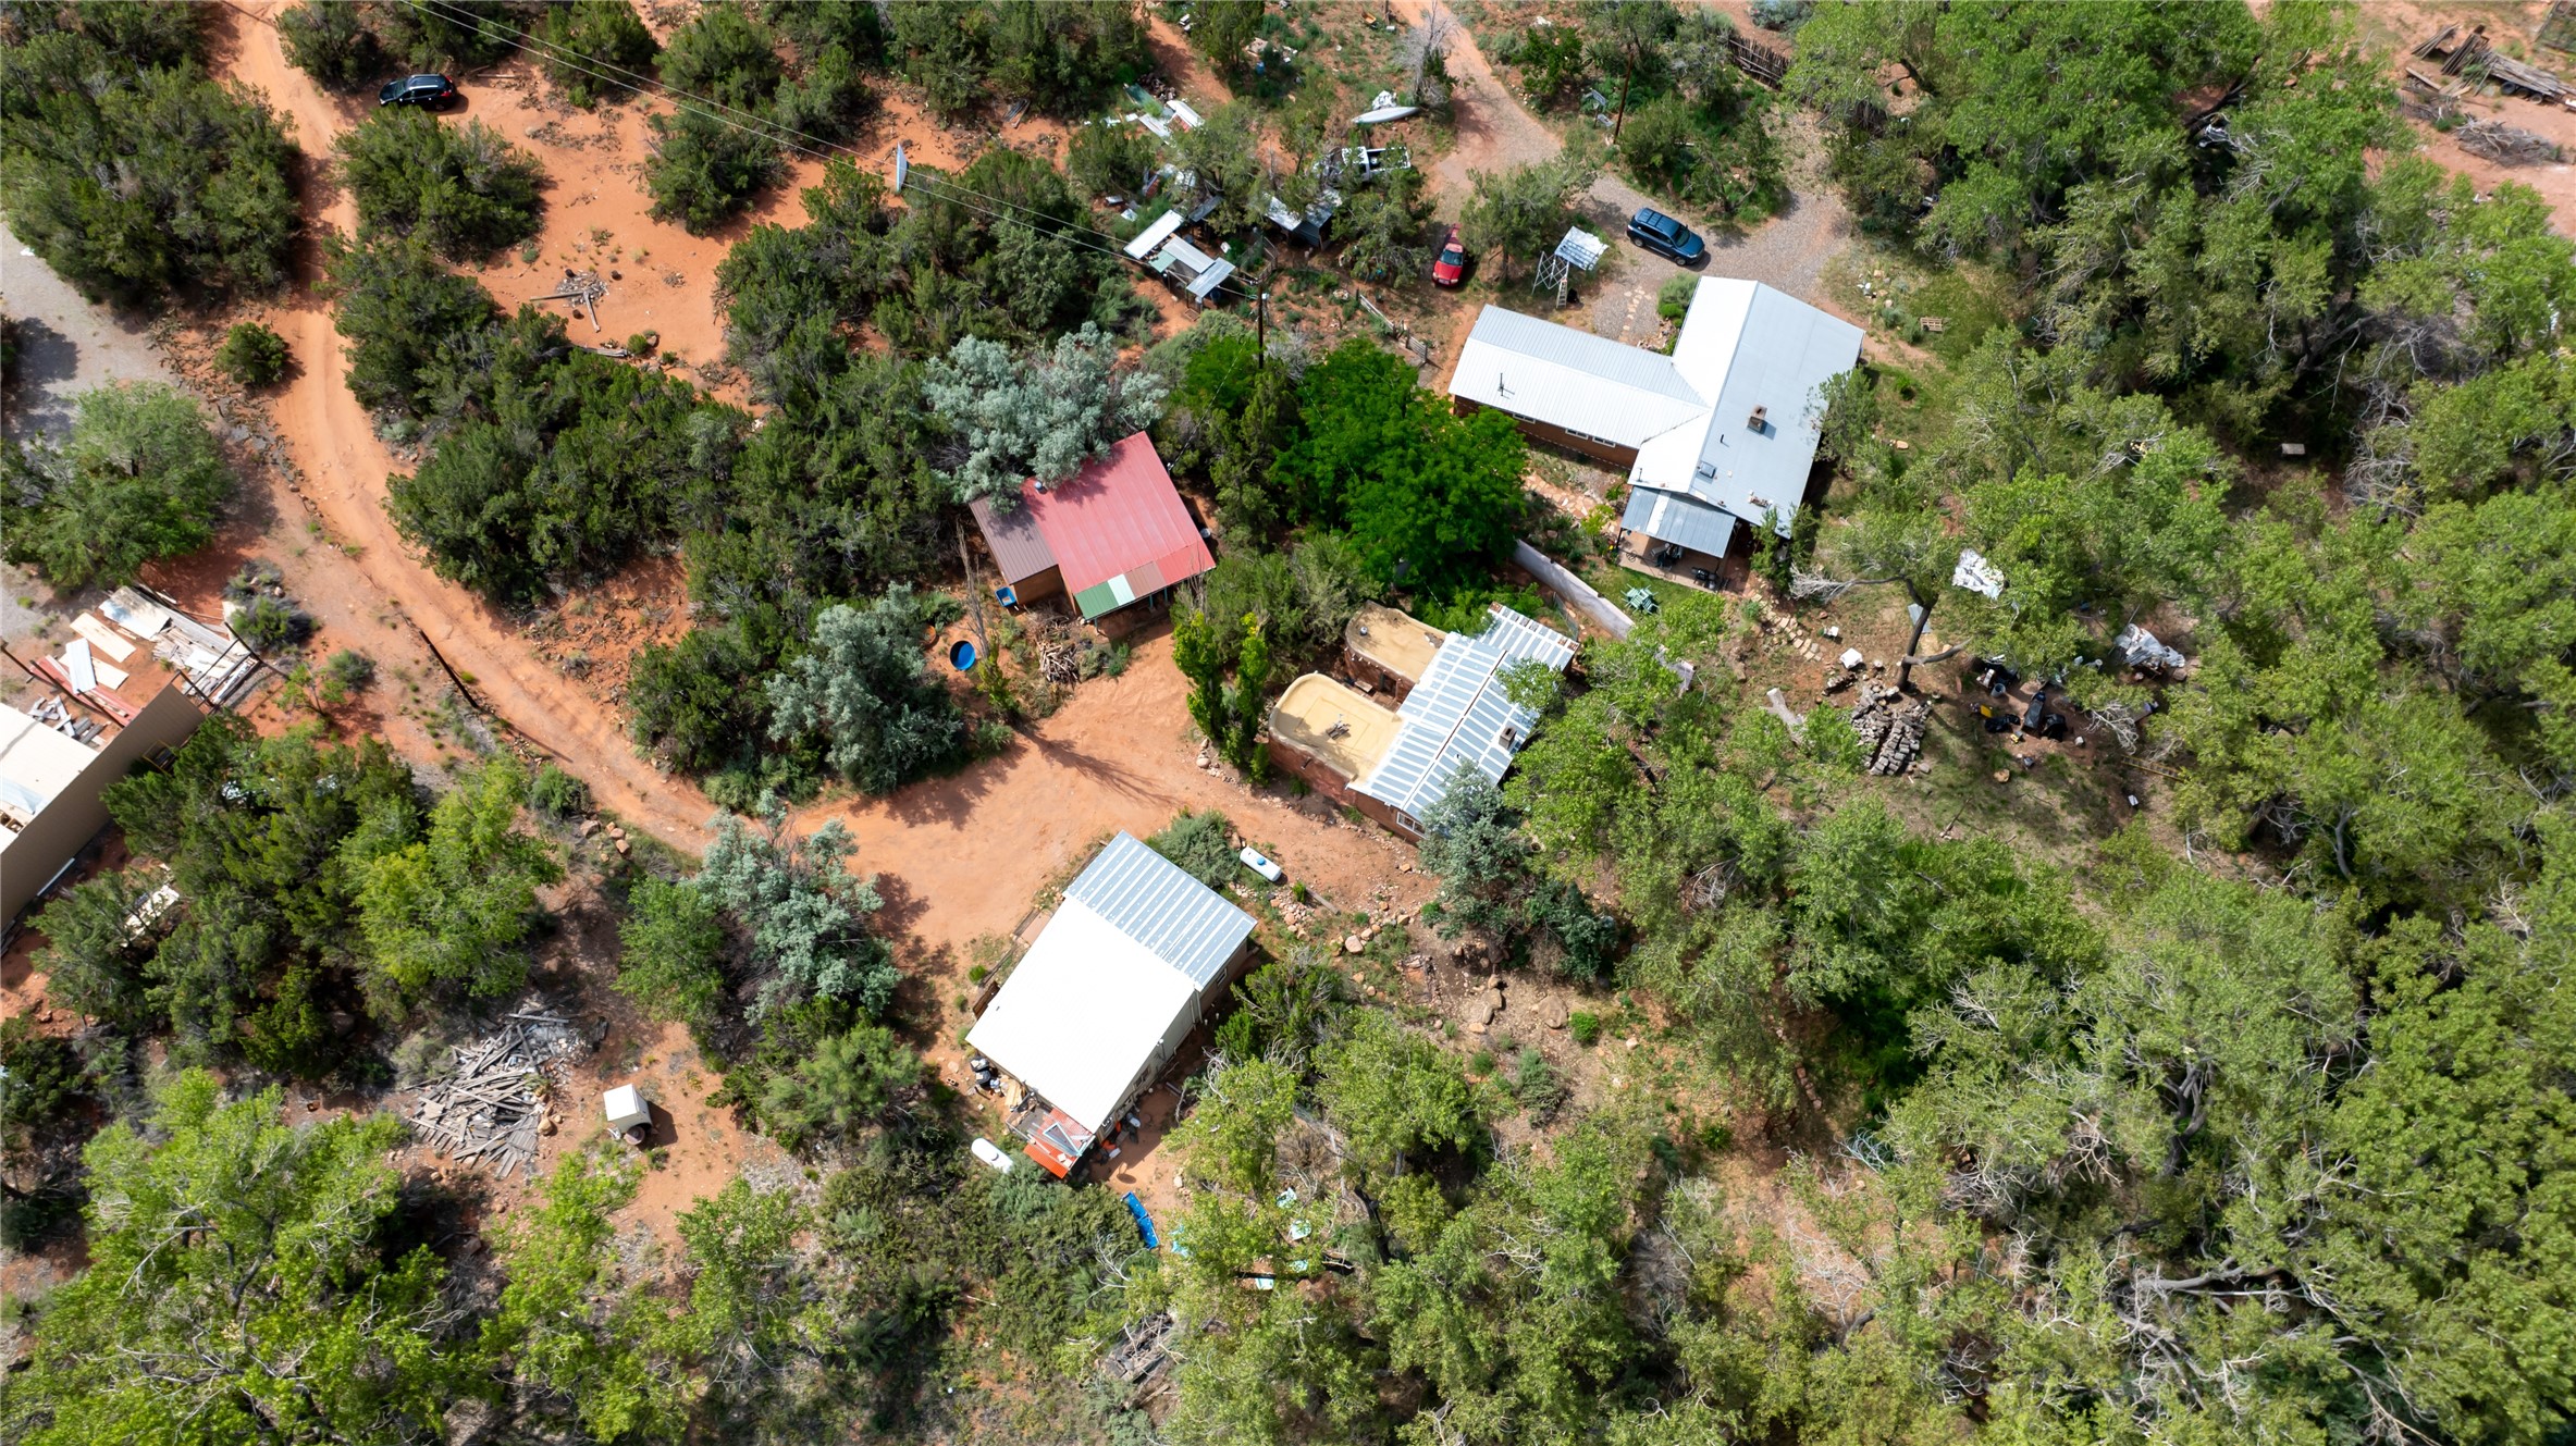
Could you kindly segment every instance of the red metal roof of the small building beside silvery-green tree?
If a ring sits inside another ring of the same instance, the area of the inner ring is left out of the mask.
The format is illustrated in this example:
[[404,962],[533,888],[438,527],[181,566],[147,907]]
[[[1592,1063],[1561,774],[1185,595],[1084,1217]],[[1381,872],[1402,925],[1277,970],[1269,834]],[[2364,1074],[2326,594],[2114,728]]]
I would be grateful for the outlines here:
[[1095,456],[1090,467],[1046,492],[1023,482],[1020,500],[1056,557],[1066,593],[1136,572],[1131,585],[1144,595],[1216,567],[1198,523],[1190,521],[1190,508],[1180,503],[1172,474],[1144,433]]

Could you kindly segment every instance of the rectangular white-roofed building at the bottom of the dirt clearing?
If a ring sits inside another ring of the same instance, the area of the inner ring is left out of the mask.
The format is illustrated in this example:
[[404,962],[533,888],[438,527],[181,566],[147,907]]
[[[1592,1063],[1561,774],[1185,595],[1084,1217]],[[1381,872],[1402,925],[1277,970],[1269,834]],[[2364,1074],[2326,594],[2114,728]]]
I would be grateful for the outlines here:
[[1066,1173],[1172,1062],[1249,938],[1252,915],[1133,835],[1113,838],[966,1031],[1048,1106],[1025,1116],[1028,1155]]

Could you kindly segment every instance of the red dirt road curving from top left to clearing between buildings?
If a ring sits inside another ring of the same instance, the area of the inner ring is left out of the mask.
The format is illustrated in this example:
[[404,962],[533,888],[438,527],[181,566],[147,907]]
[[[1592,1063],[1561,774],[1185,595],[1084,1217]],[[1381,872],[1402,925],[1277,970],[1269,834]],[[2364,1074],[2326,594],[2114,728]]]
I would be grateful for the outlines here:
[[[307,155],[322,155],[361,111],[319,93],[286,64],[276,28],[263,23],[273,8],[214,10],[216,57],[227,77],[265,90],[294,119]],[[605,191],[608,178],[556,180],[559,188],[598,183]],[[647,235],[641,191],[631,178],[618,180],[634,191],[626,240]],[[330,196],[314,219],[337,229],[355,224],[345,196]],[[554,229],[549,222],[549,235]],[[670,255],[659,240],[652,250]],[[613,709],[538,662],[510,619],[438,580],[404,546],[384,510],[394,456],[343,381],[343,343],[330,309],[299,299],[273,325],[304,361],[276,400],[276,420],[330,531],[358,546],[366,575],[428,631],[500,719],[559,755],[603,807],[696,853],[716,812],[706,794],[654,771],[636,755]],[[286,495],[276,503],[286,513],[299,508]],[[981,933],[1007,933],[1074,848],[1113,827],[1151,833],[1180,807],[1229,809],[1239,827],[1275,845],[1280,861],[1327,897],[1358,902],[1368,882],[1396,876],[1409,851],[1376,830],[1324,822],[1329,812],[1314,802],[1296,809],[1198,771],[1188,727],[1170,642],[1154,639],[1136,650],[1136,665],[1123,678],[1084,683],[1064,711],[1007,755],[894,799],[806,809],[796,825],[809,830],[824,817],[848,820],[860,845],[855,866],[886,874],[899,915],[894,923],[930,949],[963,949]]]

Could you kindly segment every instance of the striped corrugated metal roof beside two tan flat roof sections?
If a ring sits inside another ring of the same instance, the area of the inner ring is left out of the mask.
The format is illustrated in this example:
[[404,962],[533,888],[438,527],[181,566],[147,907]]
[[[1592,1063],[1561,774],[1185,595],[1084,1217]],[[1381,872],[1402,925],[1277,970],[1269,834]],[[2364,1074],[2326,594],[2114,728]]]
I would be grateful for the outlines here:
[[1481,634],[1450,634],[1432,655],[1432,665],[1396,711],[1404,727],[1394,747],[1358,784],[1363,794],[1422,817],[1448,794],[1458,768],[1476,768],[1497,784],[1512,768],[1512,753],[1530,737],[1538,711],[1515,704],[1499,673],[1525,660],[1561,673],[1574,662],[1574,644],[1502,603],[1486,616],[1492,624]]

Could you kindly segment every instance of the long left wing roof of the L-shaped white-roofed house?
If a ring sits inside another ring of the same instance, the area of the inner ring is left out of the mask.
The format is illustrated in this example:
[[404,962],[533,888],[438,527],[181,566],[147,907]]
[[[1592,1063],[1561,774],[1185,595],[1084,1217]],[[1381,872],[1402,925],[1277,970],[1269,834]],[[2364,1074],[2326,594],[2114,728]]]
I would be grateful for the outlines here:
[[1641,446],[1708,412],[1669,356],[1502,307],[1476,317],[1450,394],[1613,446]]

